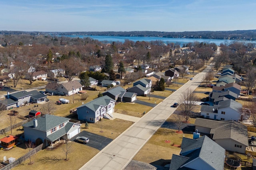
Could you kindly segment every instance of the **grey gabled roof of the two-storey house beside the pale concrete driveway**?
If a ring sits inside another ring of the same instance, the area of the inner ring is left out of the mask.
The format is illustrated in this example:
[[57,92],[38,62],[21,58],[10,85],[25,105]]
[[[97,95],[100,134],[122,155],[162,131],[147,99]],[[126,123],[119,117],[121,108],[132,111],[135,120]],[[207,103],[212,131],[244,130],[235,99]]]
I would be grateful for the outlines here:
[[92,111],[96,111],[101,106],[108,106],[108,104],[111,101],[112,102],[116,102],[115,100],[113,100],[109,96],[102,96],[102,97],[96,98],[96,99],[94,99],[94,100],[92,100],[92,101],[90,101],[90,102],[88,102],[86,104],[83,104],[82,106],[77,107],[77,109],[81,108],[81,107],[88,107]]

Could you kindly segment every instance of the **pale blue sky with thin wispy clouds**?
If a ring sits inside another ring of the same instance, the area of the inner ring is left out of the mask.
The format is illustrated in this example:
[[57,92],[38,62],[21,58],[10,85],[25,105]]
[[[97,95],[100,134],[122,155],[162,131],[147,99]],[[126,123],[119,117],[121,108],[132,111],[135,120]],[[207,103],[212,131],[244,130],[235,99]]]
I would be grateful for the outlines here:
[[248,30],[255,9],[254,0],[0,0],[0,30]]

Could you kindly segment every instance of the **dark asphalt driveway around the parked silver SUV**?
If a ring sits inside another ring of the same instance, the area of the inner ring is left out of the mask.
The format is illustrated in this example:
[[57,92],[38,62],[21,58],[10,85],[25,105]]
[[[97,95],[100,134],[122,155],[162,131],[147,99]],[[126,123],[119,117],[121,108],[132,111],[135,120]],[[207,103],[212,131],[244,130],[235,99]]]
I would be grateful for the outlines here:
[[[104,129],[102,130],[104,133]],[[102,150],[104,147],[106,147],[110,142],[113,141],[113,139],[106,138],[104,136],[100,136],[94,133],[90,133],[87,131],[82,131],[78,135],[72,137],[70,141],[75,141],[76,137],[84,136],[89,138],[89,142],[85,145],[88,145],[89,147],[93,147],[98,150]],[[84,145],[81,143],[81,145]]]

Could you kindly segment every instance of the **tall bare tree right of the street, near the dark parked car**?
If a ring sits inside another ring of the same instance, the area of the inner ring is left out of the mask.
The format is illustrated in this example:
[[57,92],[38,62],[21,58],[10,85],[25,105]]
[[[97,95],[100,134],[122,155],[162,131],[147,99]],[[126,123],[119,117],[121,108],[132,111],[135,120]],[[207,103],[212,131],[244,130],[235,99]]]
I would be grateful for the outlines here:
[[196,102],[198,98],[193,90],[190,88],[184,91],[179,98],[180,109],[182,114],[184,115],[186,121],[191,117],[192,111],[196,108]]

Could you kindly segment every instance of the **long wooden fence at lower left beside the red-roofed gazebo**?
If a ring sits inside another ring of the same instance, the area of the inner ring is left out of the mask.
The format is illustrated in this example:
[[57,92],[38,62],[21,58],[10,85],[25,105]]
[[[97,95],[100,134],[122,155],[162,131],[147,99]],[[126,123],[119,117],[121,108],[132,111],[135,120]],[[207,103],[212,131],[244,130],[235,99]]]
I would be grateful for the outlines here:
[[20,158],[14,160],[13,162],[11,162],[11,163],[7,164],[6,166],[4,166],[3,168],[1,168],[1,170],[10,170],[10,169],[14,168],[15,166],[17,166],[17,165],[21,164],[22,162],[24,162],[25,160],[27,160],[30,156],[33,156],[34,154],[36,154],[37,152],[42,150],[42,147],[43,147],[43,144],[38,145],[33,150],[30,150],[30,152],[24,154]]

